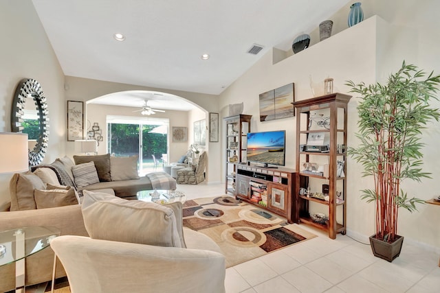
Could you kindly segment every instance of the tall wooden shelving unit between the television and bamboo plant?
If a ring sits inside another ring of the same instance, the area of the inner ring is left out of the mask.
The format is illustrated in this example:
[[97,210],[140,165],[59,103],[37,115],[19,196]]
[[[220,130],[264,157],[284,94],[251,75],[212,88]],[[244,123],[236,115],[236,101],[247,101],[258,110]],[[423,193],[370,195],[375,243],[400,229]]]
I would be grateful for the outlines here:
[[[347,148],[347,104],[350,98],[351,95],[332,93],[293,103],[296,108],[295,222],[309,224],[327,231],[331,239],[335,239],[337,233],[345,234],[347,230],[345,149]],[[311,151],[310,147],[315,146],[307,146],[307,142],[311,141],[311,135],[324,137],[323,141],[327,142],[327,150]],[[338,161],[343,162],[339,164],[339,174]],[[309,163],[315,163],[318,169],[305,172],[305,169],[310,167]],[[310,172],[316,172],[316,174]],[[329,187],[328,201],[313,196],[323,191],[323,185]],[[308,187],[310,187],[312,196],[304,194],[304,190]],[[340,193],[340,198],[337,196],[337,191]],[[327,211],[329,218],[325,224],[311,219],[311,204],[324,206],[323,209]]]

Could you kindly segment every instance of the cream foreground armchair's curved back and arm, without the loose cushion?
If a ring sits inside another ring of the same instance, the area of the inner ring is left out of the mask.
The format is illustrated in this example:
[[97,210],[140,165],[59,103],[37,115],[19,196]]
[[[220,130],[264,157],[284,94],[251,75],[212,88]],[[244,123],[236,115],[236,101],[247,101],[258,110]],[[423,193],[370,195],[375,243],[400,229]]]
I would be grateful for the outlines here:
[[212,251],[217,244],[187,228],[184,235],[188,248],[71,235],[50,245],[72,293],[225,292],[225,257]]

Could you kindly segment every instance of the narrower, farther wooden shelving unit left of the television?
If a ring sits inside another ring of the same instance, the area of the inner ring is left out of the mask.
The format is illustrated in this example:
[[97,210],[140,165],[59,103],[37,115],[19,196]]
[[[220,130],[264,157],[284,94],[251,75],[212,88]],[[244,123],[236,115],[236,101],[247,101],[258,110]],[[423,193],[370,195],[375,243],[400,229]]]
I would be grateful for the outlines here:
[[236,165],[246,156],[246,136],[250,132],[252,115],[223,118],[225,129],[225,193],[236,196]]

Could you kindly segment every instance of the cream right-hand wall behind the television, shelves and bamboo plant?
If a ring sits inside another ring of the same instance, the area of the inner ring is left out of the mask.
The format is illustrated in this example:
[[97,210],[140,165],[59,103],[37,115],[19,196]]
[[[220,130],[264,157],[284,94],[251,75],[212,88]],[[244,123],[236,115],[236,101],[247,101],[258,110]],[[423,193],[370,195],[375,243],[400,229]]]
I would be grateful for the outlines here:
[[[273,121],[259,121],[259,94],[289,82],[295,83],[295,99],[312,97],[309,76],[315,88],[322,89],[323,80],[334,78],[334,91],[347,93],[346,80],[366,82],[366,84],[384,81],[386,77],[399,69],[402,60],[415,63],[427,71],[440,73],[440,60],[437,58],[439,47],[439,21],[435,11],[439,11],[439,1],[362,1],[365,12],[364,22],[348,29],[347,15],[349,5],[336,13],[331,19],[335,23],[333,36],[322,42],[312,41],[311,47],[274,64],[272,51],[268,52],[252,68],[236,80],[221,94],[221,116],[225,117],[227,105],[244,102],[243,113],[252,115],[252,131],[286,130],[286,166],[294,167],[295,156],[295,120],[294,118]],[[373,17],[379,14],[380,17]],[[428,17],[428,19],[427,19]],[[315,31],[316,32],[316,31]],[[311,33],[313,39],[316,34]],[[437,49],[436,49],[437,48]],[[276,56],[279,55],[277,51]],[[278,61],[278,60],[277,60]],[[321,93],[322,93],[321,92]],[[433,106],[439,103],[435,102]],[[358,141],[354,133],[358,130],[355,109],[357,98],[349,102],[348,143],[355,146]],[[423,169],[432,172],[434,180],[422,183],[404,183],[410,196],[429,199],[438,195],[436,178],[440,167],[435,156],[439,144],[439,123],[435,122],[423,132],[426,142],[426,154]],[[221,131],[224,137],[224,130]],[[224,142],[222,142],[224,144]],[[224,151],[222,161],[225,160]],[[223,168],[222,164],[222,168]],[[351,159],[347,159],[349,175],[347,180],[347,228],[351,235],[366,240],[374,233],[374,207],[360,200],[359,190],[371,187],[372,178],[362,178],[362,168]],[[399,233],[406,241],[420,242],[435,249],[440,247],[438,207],[419,206],[419,212],[409,214],[399,212]]]

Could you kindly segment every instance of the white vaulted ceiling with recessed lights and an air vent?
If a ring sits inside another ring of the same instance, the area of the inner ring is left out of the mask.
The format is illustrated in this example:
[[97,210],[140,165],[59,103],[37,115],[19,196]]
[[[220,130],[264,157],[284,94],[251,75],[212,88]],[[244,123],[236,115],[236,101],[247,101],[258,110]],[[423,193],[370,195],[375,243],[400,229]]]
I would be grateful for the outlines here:
[[[65,75],[218,95],[271,47],[291,49],[349,1],[32,2]],[[248,54],[254,44],[263,49]]]

